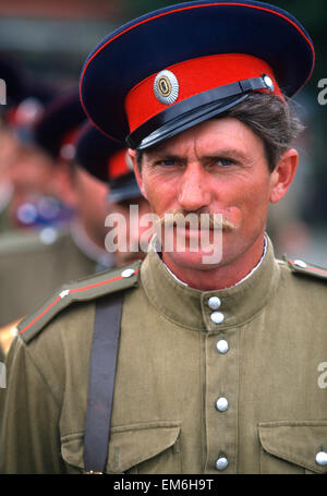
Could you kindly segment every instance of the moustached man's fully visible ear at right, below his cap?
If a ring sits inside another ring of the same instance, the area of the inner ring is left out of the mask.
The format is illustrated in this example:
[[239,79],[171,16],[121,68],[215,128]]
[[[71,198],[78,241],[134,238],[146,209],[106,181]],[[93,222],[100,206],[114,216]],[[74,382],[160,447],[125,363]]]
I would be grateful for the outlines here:
[[282,154],[276,168],[270,174],[270,195],[271,203],[279,202],[290,187],[299,162],[299,154],[295,149],[288,149]]

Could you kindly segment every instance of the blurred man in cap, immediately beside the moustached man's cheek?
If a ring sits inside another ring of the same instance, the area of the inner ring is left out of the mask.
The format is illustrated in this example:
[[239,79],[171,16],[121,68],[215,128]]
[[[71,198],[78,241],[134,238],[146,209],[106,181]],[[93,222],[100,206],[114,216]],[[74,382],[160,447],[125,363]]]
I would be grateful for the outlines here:
[[[105,240],[106,250],[114,255],[114,266],[121,267],[130,262],[143,259],[146,251],[146,231],[148,229],[150,231],[152,225],[142,223],[142,219],[144,220],[144,216],[150,213],[150,207],[142,196],[125,147],[109,140],[87,123],[78,142],[76,161],[92,176],[109,185],[107,228],[116,227],[114,219],[118,222],[121,219],[121,225],[114,229],[119,239],[114,240],[113,233],[109,231]],[[143,235],[144,250],[140,244]]]

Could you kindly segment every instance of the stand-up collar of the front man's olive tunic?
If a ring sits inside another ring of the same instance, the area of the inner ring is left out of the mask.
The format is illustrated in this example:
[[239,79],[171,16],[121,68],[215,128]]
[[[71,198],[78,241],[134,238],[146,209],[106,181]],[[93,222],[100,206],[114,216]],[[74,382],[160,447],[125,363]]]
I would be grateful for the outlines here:
[[152,249],[141,268],[144,291],[161,315],[193,330],[219,331],[253,318],[271,298],[279,266],[268,239],[266,256],[242,282],[228,289],[199,291],[179,282]]

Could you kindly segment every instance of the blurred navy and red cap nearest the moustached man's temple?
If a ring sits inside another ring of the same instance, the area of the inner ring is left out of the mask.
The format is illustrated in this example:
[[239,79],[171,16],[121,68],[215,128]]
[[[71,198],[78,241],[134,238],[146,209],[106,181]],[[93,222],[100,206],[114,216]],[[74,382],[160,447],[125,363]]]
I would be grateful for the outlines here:
[[75,161],[97,179],[108,183],[111,202],[142,196],[126,147],[100,133],[89,121],[76,137]]

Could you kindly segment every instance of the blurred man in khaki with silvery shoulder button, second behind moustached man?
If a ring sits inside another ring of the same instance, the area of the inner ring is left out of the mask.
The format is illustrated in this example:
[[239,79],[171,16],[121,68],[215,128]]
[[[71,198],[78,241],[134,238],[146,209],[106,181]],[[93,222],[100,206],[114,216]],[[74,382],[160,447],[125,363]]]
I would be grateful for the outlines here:
[[[33,126],[33,147],[36,153],[45,157],[48,169],[45,171],[44,164],[35,177],[44,179],[43,184],[49,187],[57,184],[57,197],[62,198],[71,210],[74,210],[70,219],[70,228],[61,229],[59,226],[46,223],[46,227],[38,229],[28,235],[14,232],[3,235],[0,242],[0,325],[5,326],[15,323],[26,313],[38,305],[47,294],[55,288],[61,286],[64,280],[80,278],[92,274],[98,268],[106,268],[113,265],[110,254],[105,253],[105,249],[98,249],[98,253],[86,246],[84,237],[73,239],[72,230],[76,225],[83,226],[83,211],[78,211],[77,198],[83,195],[83,201],[87,206],[92,206],[96,201],[97,205],[101,202],[101,210],[95,209],[101,217],[101,222],[107,214],[105,198],[107,186],[100,181],[89,177],[83,170],[80,171],[74,166],[75,140],[78,128],[85,120],[84,111],[78,102],[76,92],[69,92],[60,95],[51,101],[41,113]],[[24,179],[32,171],[26,171],[29,164],[28,159],[22,155],[22,162],[15,165],[15,169],[22,170],[22,190],[25,187]],[[24,178],[24,179],[23,179]],[[19,173],[16,174],[20,183]],[[34,178],[35,179],[35,178]],[[35,186],[35,181],[33,185]],[[29,190],[31,191],[31,190]],[[40,191],[36,189],[37,193]],[[80,205],[82,201],[80,201]],[[74,227],[73,227],[74,226]],[[75,231],[78,229],[76,228]],[[74,231],[74,232],[75,232]],[[78,230],[80,232],[80,230]],[[102,238],[105,230],[102,230]],[[100,243],[100,240],[97,240]],[[96,244],[96,243],[95,243]],[[96,246],[98,246],[96,244]],[[14,326],[13,326],[14,327]],[[4,334],[2,334],[4,336]]]

